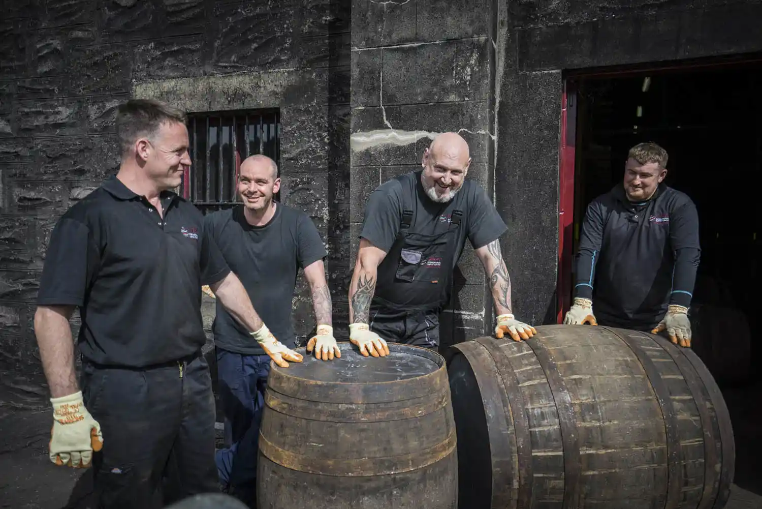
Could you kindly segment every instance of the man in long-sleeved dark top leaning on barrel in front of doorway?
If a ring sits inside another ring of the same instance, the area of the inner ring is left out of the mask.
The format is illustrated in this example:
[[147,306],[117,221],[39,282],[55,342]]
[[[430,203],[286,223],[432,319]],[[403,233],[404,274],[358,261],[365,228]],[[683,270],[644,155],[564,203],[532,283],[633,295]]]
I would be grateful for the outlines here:
[[667,160],[656,143],[632,147],[623,183],[588,205],[565,324],[666,330],[690,346],[699,217],[687,195],[662,183]]

